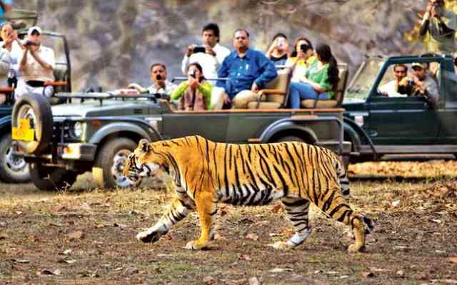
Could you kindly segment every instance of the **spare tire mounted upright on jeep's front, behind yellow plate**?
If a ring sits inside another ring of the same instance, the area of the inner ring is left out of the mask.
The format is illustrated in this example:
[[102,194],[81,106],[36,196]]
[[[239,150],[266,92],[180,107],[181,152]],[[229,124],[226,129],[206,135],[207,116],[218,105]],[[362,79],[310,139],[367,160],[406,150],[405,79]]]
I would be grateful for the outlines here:
[[44,96],[23,95],[14,104],[11,117],[13,128],[19,128],[21,119],[29,119],[30,128],[34,130],[34,140],[17,140],[19,147],[29,155],[43,153],[52,139],[53,120],[48,99]]

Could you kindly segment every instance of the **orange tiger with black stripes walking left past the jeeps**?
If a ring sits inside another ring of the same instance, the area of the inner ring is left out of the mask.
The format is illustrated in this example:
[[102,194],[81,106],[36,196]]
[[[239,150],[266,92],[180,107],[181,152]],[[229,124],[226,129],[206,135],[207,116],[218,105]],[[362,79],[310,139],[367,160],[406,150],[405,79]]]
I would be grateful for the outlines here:
[[230,144],[201,136],[149,142],[142,139],[124,167],[132,182],[166,172],[176,185],[175,197],[153,227],[139,232],[141,242],[156,242],[196,210],[201,234],[186,249],[205,249],[214,239],[217,203],[264,205],[280,199],[295,232],[286,242],[271,244],[288,250],[311,234],[308,209],[312,202],[326,217],[351,226],[355,243],[348,252],[365,251],[366,234],[374,227],[368,217],[346,202],[350,193],[343,163],[331,150],[304,142]]

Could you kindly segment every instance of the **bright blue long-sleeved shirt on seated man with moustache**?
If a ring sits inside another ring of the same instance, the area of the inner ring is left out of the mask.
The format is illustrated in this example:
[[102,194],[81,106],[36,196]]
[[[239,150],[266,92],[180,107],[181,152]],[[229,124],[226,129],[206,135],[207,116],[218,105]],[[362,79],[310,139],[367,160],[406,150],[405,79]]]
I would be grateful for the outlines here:
[[251,90],[252,83],[263,88],[272,81],[278,73],[272,61],[261,51],[248,48],[242,58],[232,51],[222,62],[217,73],[219,78],[228,77],[229,81],[218,81],[216,86],[222,87],[232,99],[242,90]]

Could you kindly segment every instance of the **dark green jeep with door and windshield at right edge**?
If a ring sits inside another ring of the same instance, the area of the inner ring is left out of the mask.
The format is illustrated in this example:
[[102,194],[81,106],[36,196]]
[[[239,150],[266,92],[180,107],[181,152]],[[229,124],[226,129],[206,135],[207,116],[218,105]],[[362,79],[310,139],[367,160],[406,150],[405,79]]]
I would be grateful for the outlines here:
[[[438,84],[438,103],[423,96],[388,97],[379,86],[393,80],[393,65],[427,63]],[[344,136],[352,142],[351,161],[393,155],[433,157],[457,153],[457,75],[451,56],[368,57],[346,90]]]

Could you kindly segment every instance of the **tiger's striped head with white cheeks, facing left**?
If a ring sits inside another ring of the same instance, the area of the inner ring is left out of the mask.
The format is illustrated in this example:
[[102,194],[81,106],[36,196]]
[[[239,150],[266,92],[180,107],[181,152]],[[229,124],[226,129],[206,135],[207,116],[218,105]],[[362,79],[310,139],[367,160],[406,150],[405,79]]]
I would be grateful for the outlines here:
[[137,183],[141,177],[156,175],[156,172],[164,165],[161,155],[154,153],[154,143],[148,140],[140,140],[136,150],[127,158],[123,175],[131,182]]

